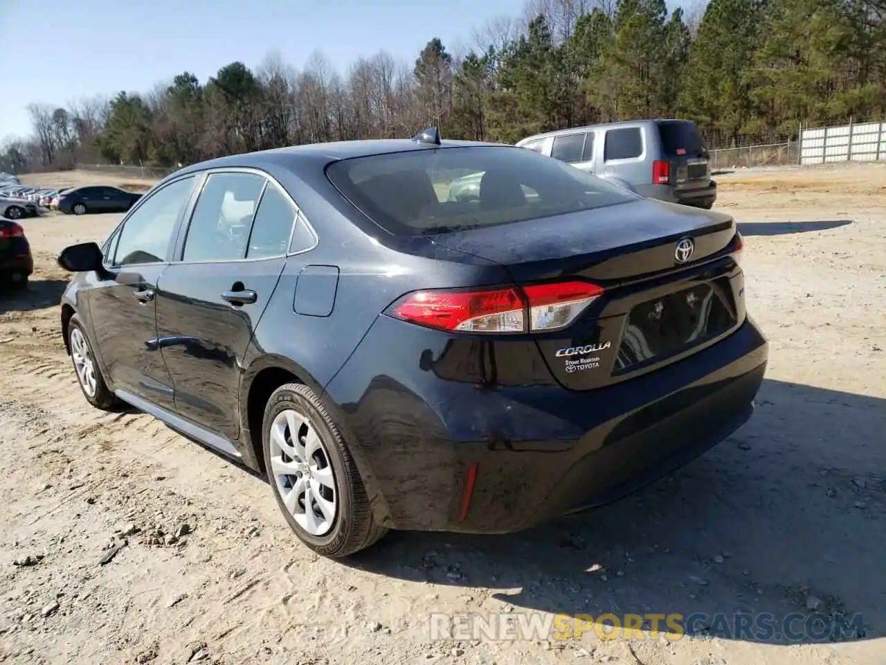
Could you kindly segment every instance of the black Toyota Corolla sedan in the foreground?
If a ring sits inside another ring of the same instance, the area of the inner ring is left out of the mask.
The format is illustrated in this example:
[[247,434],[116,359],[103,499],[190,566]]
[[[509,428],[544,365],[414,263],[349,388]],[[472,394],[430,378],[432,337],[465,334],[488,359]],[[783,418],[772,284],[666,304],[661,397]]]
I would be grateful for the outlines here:
[[741,254],[727,215],[430,129],[168,176],[59,256],[61,326],[89,403],[267,473],[340,557],[602,505],[732,433],[767,358]]

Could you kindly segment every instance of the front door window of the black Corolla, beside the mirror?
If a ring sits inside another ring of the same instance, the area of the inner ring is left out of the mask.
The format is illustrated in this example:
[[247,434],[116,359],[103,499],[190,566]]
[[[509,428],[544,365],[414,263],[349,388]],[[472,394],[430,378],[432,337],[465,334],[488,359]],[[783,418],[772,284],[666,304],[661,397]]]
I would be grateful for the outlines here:
[[188,205],[193,186],[194,177],[185,177],[145,199],[123,223],[114,263],[124,266],[166,261],[175,223]]

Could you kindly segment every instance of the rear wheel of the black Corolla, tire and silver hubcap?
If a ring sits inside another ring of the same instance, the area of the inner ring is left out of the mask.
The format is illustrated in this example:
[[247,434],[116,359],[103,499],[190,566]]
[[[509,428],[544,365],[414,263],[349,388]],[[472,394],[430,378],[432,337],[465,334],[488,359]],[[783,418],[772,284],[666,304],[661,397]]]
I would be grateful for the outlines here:
[[278,387],[261,430],[268,481],[302,543],[341,558],[385,535],[373,520],[354,458],[313,390],[297,383]]

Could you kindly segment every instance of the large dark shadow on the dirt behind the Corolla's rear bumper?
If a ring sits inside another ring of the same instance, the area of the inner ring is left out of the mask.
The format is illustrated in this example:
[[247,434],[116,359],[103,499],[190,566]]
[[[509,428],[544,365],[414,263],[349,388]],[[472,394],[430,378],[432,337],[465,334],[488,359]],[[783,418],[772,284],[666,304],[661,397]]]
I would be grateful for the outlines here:
[[[348,563],[515,612],[678,613],[688,633],[771,644],[882,637],[883,431],[886,400],[767,379],[748,424],[620,502],[509,536],[395,532]],[[771,623],[741,632],[736,613]]]

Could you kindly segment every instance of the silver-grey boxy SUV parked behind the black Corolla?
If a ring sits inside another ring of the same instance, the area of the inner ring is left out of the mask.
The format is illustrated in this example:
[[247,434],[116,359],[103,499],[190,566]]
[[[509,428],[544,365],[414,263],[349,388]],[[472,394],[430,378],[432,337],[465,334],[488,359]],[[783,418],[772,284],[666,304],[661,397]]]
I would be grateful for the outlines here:
[[588,125],[536,134],[517,145],[649,199],[706,208],[717,200],[709,153],[693,121]]

